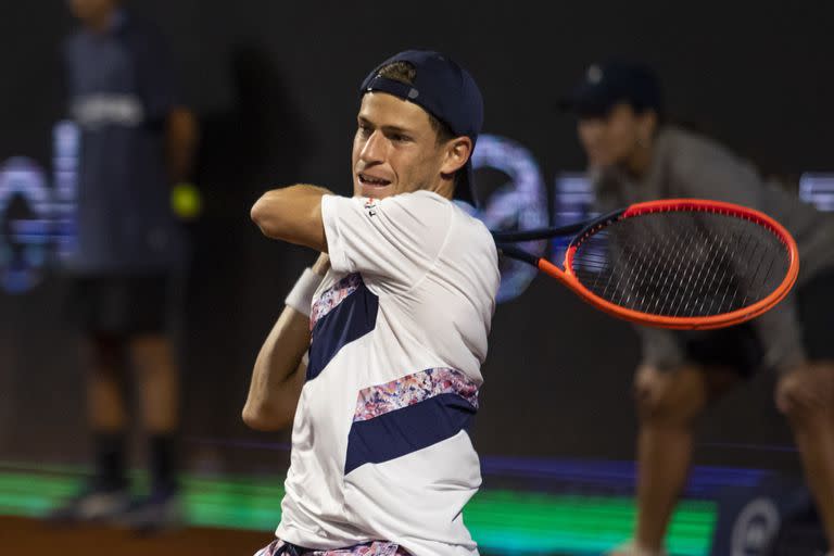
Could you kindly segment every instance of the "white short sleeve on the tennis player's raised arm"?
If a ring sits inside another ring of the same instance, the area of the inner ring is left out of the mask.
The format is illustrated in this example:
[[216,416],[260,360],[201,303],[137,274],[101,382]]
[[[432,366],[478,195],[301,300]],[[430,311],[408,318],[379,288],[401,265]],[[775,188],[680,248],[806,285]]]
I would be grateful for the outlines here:
[[427,191],[383,200],[325,195],[330,264],[338,273],[359,273],[390,292],[409,290],[434,265],[452,232],[450,201]]

